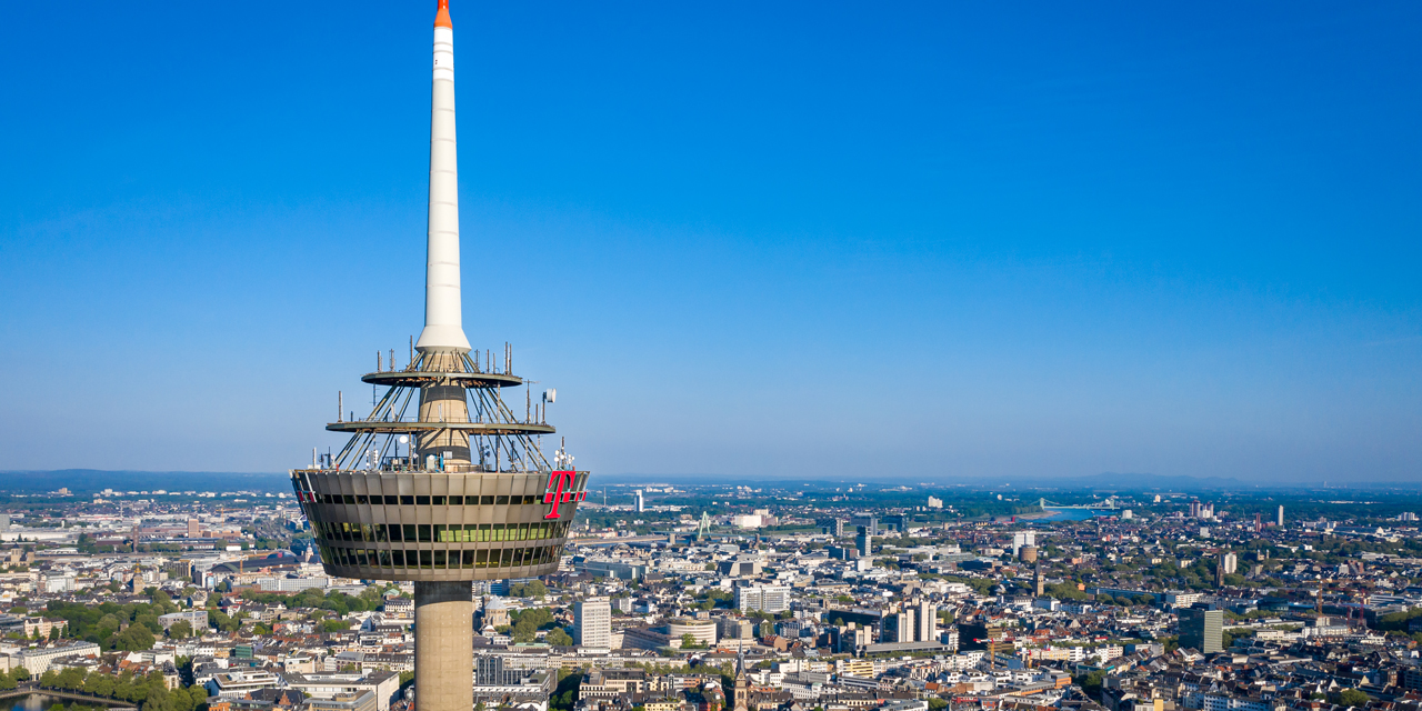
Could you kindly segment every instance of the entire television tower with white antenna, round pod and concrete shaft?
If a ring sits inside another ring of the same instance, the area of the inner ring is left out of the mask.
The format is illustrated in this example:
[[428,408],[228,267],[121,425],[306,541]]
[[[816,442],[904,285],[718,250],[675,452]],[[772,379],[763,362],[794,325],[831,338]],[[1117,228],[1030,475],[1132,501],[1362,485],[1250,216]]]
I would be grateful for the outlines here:
[[545,414],[553,392],[535,404],[526,390],[519,418],[501,394],[530,387],[513,374],[512,348],[481,358],[464,334],[456,171],[454,24],[448,0],[439,0],[425,326],[404,368],[391,353],[388,364],[377,356],[375,371],[361,377],[385,388],[370,415],[338,412],[326,425],[351,435],[340,454],[292,469],[327,574],[414,580],[417,711],[474,707],[471,580],[557,572],[577,502],[587,496],[587,472],[576,471],[562,447],[552,461],[540,447],[555,432]]

